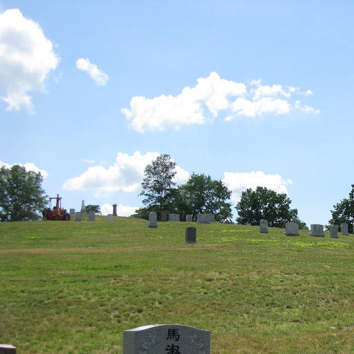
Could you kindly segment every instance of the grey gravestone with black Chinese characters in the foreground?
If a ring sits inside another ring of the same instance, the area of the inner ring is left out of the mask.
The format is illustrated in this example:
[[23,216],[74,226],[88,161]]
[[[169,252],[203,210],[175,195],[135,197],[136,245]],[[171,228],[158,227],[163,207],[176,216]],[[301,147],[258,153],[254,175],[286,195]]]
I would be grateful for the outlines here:
[[123,331],[123,354],[210,354],[210,331],[155,324]]

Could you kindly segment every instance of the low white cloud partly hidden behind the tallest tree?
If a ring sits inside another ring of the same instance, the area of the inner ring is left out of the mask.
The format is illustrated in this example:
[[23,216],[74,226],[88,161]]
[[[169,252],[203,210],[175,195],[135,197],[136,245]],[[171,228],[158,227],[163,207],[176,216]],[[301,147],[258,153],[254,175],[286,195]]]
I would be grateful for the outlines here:
[[[133,156],[129,156],[118,152],[112,166],[90,167],[82,175],[68,179],[63,188],[69,191],[91,189],[96,191],[96,196],[112,192],[137,193],[144,179],[144,168],[159,155],[158,152],[146,152],[142,155],[136,151]],[[188,172],[178,166],[176,172],[175,182],[184,182],[188,178]]]

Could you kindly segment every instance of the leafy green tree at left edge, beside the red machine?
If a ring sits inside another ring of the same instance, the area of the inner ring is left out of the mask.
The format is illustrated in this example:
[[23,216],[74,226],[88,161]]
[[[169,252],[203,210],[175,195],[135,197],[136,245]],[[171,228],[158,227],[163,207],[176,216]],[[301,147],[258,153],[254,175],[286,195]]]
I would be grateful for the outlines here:
[[38,220],[48,196],[42,189],[40,172],[14,165],[0,169],[0,220]]

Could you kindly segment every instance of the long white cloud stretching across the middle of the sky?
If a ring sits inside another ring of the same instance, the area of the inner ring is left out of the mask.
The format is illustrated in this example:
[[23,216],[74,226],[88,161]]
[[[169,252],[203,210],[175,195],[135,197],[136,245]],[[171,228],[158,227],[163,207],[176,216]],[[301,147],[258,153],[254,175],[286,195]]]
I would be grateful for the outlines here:
[[[162,131],[212,122],[221,114],[226,121],[239,115],[289,114],[291,109],[298,109],[292,96],[312,94],[311,90],[301,92],[297,87],[261,85],[260,80],[245,85],[221,79],[217,73],[197,81],[196,87],[185,87],[178,96],[135,96],[130,100],[130,109],[121,112],[138,132]],[[309,108],[307,112],[317,112]]]

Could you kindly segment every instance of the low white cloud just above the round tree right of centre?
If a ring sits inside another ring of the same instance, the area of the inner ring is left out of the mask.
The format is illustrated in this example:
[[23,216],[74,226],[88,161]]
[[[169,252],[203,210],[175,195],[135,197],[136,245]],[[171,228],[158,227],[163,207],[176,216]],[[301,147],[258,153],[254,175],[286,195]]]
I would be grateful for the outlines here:
[[272,189],[277,193],[287,193],[287,185],[292,184],[291,179],[283,179],[280,175],[266,175],[262,171],[258,172],[224,172],[224,184],[233,192],[231,199],[239,202],[241,194],[247,188],[253,191],[258,186]]

